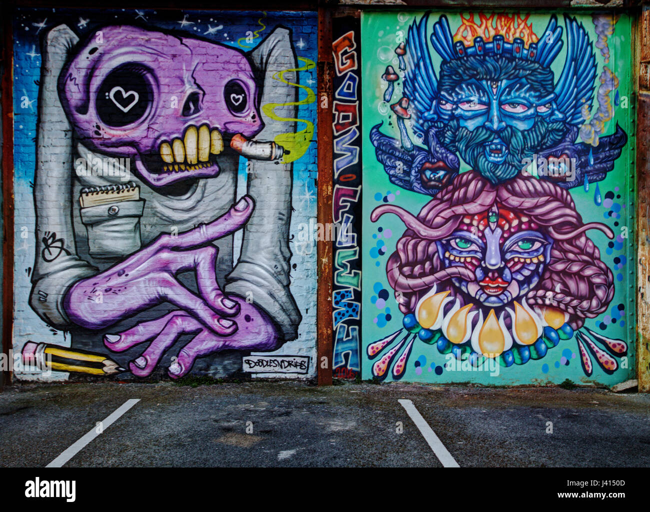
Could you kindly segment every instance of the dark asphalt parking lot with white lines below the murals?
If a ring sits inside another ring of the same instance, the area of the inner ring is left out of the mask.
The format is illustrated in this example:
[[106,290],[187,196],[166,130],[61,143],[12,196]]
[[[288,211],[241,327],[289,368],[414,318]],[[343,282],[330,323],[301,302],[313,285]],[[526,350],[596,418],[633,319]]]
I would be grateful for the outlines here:
[[9,467],[649,466],[650,395],[277,381],[18,384],[0,394],[0,431],[0,466]]

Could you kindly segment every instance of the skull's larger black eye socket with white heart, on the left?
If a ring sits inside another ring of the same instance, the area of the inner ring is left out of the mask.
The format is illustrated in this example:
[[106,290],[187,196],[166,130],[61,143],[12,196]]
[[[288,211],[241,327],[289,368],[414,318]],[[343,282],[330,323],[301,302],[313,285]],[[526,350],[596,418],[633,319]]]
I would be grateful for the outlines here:
[[123,64],[110,72],[96,98],[99,119],[120,128],[144,118],[153,101],[148,74],[148,69],[138,64]]

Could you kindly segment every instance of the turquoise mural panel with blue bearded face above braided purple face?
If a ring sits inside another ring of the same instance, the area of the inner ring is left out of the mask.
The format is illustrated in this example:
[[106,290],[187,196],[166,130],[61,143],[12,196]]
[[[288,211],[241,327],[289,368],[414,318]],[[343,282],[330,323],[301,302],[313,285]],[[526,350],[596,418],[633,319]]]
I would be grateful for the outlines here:
[[630,34],[613,14],[364,14],[364,378],[633,378]]

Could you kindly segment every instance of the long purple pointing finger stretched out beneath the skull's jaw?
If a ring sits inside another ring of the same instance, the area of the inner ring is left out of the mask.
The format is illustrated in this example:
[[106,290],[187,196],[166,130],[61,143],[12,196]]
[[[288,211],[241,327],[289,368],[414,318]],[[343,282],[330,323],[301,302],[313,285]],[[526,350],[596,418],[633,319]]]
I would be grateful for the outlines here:
[[217,217],[212,222],[200,224],[196,228],[181,233],[177,236],[163,235],[154,242],[157,247],[169,249],[191,249],[198,245],[213,242],[242,228],[255,208],[255,201],[251,196],[243,196],[237,204]]

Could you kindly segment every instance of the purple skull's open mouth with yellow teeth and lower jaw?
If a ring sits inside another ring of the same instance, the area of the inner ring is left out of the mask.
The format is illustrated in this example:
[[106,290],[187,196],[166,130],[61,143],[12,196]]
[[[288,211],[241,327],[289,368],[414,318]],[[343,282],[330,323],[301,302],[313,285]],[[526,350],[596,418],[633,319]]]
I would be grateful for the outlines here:
[[135,165],[149,183],[162,187],[188,178],[214,178],[220,172],[216,157],[223,150],[217,128],[188,126],[182,139],[162,141],[155,152],[136,155]]

